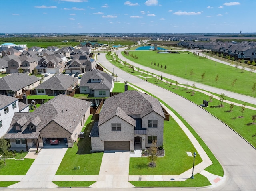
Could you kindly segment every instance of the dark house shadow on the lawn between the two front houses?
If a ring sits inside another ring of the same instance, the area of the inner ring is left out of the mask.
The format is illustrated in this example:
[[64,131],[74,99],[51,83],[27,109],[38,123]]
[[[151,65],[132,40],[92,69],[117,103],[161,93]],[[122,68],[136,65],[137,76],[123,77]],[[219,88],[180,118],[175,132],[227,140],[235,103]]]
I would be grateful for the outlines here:
[[82,155],[82,154],[90,154],[91,150],[91,138],[89,137],[90,132],[92,130],[92,127],[94,125],[94,121],[88,123],[84,129],[84,138],[80,138],[78,140],[77,146],[78,151],[76,154]]

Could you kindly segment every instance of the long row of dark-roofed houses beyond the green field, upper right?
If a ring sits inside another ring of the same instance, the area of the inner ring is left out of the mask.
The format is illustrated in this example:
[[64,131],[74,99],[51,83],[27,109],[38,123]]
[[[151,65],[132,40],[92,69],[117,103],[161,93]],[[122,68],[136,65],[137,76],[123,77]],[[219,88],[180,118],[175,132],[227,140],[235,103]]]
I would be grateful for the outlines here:
[[234,56],[237,59],[248,59],[256,61],[256,42],[193,42],[182,41],[177,44],[179,47],[189,49],[208,49],[212,52],[223,55]]

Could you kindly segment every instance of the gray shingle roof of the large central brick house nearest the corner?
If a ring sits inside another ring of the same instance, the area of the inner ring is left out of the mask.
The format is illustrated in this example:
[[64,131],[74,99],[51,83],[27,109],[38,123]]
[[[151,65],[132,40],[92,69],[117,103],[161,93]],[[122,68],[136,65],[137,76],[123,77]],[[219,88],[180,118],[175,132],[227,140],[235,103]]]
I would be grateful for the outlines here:
[[152,111],[163,118],[165,117],[162,107],[156,98],[138,91],[125,91],[105,100],[100,112],[98,125],[103,124],[115,115],[132,124],[133,122],[128,115],[140,115],[142,118]]

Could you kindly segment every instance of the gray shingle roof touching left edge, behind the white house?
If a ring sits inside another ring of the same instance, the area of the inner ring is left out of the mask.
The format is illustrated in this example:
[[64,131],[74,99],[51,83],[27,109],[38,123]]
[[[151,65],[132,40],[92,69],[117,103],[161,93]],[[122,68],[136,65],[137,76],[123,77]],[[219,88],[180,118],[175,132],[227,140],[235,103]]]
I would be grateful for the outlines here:
[[10,74],[5,77],[2,77],[0,79],[0,90],[12,90],[16,92],[37,81],[40,81],[40,79],[34,75],[14,73],[14,74]]

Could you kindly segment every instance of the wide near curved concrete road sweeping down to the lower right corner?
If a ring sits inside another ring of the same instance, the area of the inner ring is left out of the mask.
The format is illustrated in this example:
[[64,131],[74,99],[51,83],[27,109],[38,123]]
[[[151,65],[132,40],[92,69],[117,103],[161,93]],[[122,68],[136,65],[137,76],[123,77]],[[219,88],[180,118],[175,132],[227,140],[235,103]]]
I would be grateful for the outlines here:
[[109,71],[114,68],[114,73],[122,77],[119,81],[128,80],[129,83],[141,87],[166,102],[196,130],[212,150],[224,168],[226,181],[216,188],[197,188],[197,190],[256,190],[256,150],[238,134],[192,102],[115,67],[105,59],[104,53],[98,55],[98,61]]

